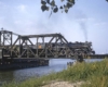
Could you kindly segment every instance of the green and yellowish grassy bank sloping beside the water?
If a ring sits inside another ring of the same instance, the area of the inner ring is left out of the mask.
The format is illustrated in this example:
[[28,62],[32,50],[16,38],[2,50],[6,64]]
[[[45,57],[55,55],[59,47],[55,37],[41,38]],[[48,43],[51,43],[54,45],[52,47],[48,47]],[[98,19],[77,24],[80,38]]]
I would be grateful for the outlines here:
[[52,73],[40,78],[31,78],[21,84],[3,84],[2,87],[41,87],[52,80],[70,83],[86,82],[82,87],[108,87],[108,60],[94,63],[78,63],[58,73]]

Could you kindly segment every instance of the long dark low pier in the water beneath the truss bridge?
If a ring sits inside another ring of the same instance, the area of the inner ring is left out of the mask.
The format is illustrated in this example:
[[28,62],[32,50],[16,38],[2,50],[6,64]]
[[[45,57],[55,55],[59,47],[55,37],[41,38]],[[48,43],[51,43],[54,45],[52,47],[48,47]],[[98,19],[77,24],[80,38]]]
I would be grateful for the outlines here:
[[0,59],[0,71],[2,70],[17,70],[27,67],[37,67],[49,65],[49,60],[46,59]]

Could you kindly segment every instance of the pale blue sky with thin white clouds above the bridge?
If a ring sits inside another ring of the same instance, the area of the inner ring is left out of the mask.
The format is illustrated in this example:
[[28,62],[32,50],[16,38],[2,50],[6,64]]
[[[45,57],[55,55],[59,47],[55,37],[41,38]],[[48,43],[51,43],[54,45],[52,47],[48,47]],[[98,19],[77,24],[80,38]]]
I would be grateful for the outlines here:
[[106,0],[76,0],[68,13],[58,11],[51,17],[50,11],[41,11],[40,1],[0,0],[0,28],[19,35],[60,33],[68,41],[92,41],[96,53],[108,53]]

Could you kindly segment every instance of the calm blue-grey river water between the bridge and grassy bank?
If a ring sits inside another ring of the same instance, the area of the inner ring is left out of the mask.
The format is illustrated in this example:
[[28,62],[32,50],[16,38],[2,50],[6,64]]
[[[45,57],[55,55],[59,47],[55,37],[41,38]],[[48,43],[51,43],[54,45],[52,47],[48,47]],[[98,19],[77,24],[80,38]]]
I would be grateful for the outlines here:
[[[40,77],[52,72],[59,72],[67,69],[67,62],[73,62],[71,59],[51,59],[49,66],[14,70],[14,71],[0,71],[0,84],[4,82],[22,82],[30,77]],[[98,59],[85,60],[86,62],[100,61]]]

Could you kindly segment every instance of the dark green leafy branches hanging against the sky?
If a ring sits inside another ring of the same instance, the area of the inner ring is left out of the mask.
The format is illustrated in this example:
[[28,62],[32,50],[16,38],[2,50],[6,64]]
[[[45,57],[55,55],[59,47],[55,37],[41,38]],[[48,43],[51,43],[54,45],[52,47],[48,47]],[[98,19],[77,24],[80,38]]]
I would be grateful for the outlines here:
[[[64,5],[57,5],[55,0],[41,0],[41,10],[44,11],[50,11],[51,8],[51,14],[58,12],[60,9],[62,12],[68,13],[68,10],[72,8],[76,3],[76,0],[60,0],[62,2],[66,2]],[[106,0],[108,2],[108,0]]]

